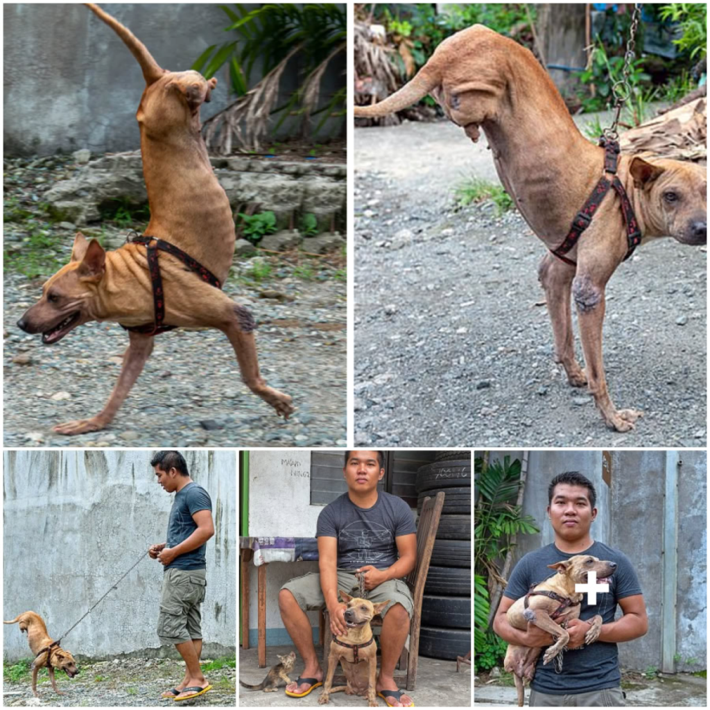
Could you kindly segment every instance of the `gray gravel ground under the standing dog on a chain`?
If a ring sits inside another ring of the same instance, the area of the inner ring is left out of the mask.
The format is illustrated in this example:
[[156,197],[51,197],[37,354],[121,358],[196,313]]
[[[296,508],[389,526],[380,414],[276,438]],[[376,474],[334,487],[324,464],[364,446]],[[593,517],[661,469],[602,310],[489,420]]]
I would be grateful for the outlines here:
[[608,285],[611,397],[645,412],[620,434],[552,359],[540,241],[517,212],[455,207],[462,178],[494,174],[485,146],[453,124],[361,129],[356,166],[356,446],[706,445],[704,248],[657,240]]

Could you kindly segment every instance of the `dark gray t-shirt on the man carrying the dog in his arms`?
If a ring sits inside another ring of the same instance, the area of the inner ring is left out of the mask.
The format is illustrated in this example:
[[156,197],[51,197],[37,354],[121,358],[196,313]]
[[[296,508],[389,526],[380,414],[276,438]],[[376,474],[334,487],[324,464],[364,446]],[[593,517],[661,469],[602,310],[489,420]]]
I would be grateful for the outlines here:
[[[596,606],[589,606],[587,596],[584,594],[579,611],[579,618],[582,621],[599,614],[602,623],[611,623],[614,621],[619,599],[642,593],[638,577],[623,552],[595,540],[587,550],[575,552],[574,555],[594,555],[617,564],[616,571],[609,578],[611,580],[609,591],[597,594]],[[560,552],[554,543],[545,545],[535,552],[528,552],[515,565],[503,594],[508,599],[520,599],[521,596],[528,594],[530,586],[557,574],[554,569],[547,567],[548,564],[561,562],[574,555]],[[537,692],[550,695],[589,693],[605,688],[618,688],[621,684],[616,643],[595,641],[584,648],[565,651],[561,673],[556,672],[555,662],[542,665],[542,655],[541,653],[537,659],[535,677],[530,684],[530,687]]]

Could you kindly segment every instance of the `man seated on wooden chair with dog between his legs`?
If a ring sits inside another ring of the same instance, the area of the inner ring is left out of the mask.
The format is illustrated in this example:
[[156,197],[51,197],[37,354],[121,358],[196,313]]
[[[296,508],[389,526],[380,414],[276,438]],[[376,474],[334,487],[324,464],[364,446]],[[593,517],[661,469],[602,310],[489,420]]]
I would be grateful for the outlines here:
[[343,476],[348,492],[325,506],[318,516],[320,573],[296,577],[281,588],[281,618],[305,663],[302,676],[286,687],[290,697],[305,697],[323,684],[306,611],[326,606],[333,635],[344,635],[347,605],[339,601],[338,590],[359,596],[355,572],[361,572],[368,601],[388,601],[380,612],[382,659],[377,694],[391,707],[414,705],[407,694],[397,689],[393,673],[409,634],[413,611],[412,596],[402,578],[415,567],[417,528],[407,503],[378,492],[377,484],[384,474],[382,452],[345,452]]

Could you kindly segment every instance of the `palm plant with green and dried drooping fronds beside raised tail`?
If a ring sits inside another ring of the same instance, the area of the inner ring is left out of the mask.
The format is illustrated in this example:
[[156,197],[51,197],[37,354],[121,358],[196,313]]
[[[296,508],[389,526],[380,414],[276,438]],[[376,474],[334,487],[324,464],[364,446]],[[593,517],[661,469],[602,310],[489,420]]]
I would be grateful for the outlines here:
[[[314,132],[318,133],[329,118],[346,115],[346,88],[332,94],[326,105],[320,103],[320,84],[325,70],[346,50],[345,6],[323,4],[268,3],[257,9],[235,4],[219,6],[229,18],[226,31],[235,38],[222,45],[212,45],[192,65],[205,77],[212,77],[224,64],[229,65],[231,90],[238,101],[225,111],[205,121],[211,126],[209,136],[221,125],[220,145],[231,146],[235,137],[246,149],[258,150],[268,132],[271,114],[279,114],[276,131],[288,116],[300,116],[301,133],[311,130],[312,116],[322,114]],[[249,9],[248,9],[249,8]],[[259,80],[253,83],[253,67],[258,62]],[[279,80],[286,65],[300,73],[300,84],[286,101],[277,106]],[[244,121],[245,131],[233,129]],[[342,125],[342,121],[340,121]]]

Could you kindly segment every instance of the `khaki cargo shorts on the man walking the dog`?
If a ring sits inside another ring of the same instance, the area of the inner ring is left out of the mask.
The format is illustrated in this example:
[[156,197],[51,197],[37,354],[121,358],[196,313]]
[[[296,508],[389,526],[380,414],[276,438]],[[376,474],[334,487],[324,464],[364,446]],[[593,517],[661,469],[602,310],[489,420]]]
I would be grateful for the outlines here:
[[207,589],[206,573],[205,569],[165,570],[158,616],[158,638],[162,643],[202,638],[200,604]]

